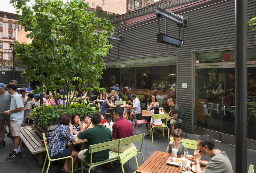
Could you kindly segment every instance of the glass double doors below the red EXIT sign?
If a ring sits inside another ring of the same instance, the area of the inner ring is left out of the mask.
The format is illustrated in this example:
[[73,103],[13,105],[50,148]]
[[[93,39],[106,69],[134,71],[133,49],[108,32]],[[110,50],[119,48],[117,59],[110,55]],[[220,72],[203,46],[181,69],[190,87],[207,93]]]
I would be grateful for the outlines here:
[[[256,140],[255,65],[248,65],[247,75],[247,136]],[[235,90],[235,66],[198,66],[195,82],[196,126],[235,135],[235,93],[239,92]]]

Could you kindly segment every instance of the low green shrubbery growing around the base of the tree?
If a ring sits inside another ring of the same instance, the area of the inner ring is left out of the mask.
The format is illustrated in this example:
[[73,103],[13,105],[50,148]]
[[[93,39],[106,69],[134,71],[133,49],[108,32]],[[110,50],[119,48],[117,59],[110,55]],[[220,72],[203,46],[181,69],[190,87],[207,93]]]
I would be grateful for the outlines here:
[[31,115],[38,119],[39,126],[47,126],[49,121],[58,121],[59,116],[62,114],[78,114],[80,118],[83,118],[84,115],[89,114],[92,115],[93,113],[97,112],[92,107],[87,107],[83,103],[81,104],[74,104],[73,107],[64,107],[60,105],[61,108],[58,106],[41,106],[37,107],[33,110]]

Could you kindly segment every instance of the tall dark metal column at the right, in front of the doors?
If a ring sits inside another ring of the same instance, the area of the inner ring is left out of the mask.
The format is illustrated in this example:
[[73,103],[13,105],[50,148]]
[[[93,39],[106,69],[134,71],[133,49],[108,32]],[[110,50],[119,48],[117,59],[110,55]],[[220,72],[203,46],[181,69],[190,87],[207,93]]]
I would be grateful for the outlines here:
[[247,172],[247,0],[235,0],[235,172]]

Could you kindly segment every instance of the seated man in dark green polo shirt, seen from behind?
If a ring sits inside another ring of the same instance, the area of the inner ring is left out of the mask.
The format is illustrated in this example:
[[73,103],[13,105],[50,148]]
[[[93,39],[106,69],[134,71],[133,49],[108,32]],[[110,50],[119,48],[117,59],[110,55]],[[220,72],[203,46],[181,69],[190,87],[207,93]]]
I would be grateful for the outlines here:
[[[106,128],[102,125],[101,115],[99,113],[93,114],[84,128],[87,129],[91,122],[95,125],[94,128],[89,128],[86,131],[79,132],[77,135],[78,138],[87,139],[88,147],[93,144],[108,142],[112,140],[111,131],[109,128]],[[90,163],[90,153],[87,149],[79,151],[77,157],[87,163]],[[93,163],[106,159],[109,159],[109,150],[93,153]],[[85,165],[88,166],[86,163]]]

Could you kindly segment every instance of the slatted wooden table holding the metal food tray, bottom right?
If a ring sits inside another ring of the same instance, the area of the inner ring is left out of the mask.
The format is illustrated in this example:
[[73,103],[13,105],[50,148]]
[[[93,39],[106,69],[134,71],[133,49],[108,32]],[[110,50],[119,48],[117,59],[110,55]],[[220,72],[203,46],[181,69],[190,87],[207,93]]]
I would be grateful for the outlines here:
[[[167,152],[155,151],[137,170],[137,173],[179,173],[179,167],[166,163],[172,156]],[[181,156],[177,156],[181,157]],[[201,169],[203,170],[203,166]]]

